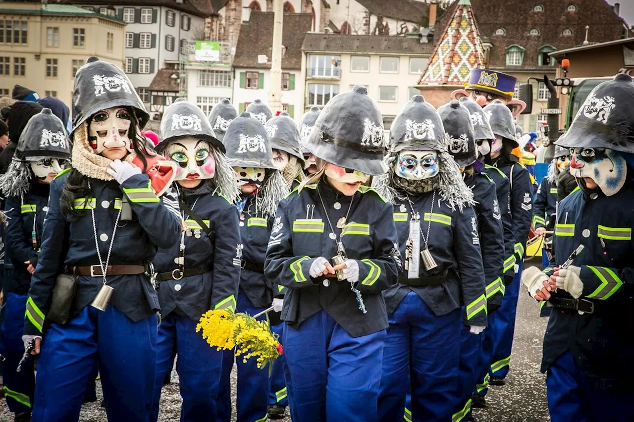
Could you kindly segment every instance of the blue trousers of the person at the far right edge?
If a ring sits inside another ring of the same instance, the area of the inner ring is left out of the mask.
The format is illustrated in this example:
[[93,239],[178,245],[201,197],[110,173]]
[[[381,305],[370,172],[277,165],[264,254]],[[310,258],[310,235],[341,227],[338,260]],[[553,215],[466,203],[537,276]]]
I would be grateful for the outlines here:
[[552,422],[617,422],[634,420],[634,389],[612,392],[593,388],[571,352],[555,361],[546,377]]

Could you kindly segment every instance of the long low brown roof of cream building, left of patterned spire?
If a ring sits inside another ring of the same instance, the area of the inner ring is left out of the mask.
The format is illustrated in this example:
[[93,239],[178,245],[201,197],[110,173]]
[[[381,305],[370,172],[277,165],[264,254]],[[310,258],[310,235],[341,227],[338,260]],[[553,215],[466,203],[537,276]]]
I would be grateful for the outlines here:
[[432,44],[422,43],[418,37],[388,35],[306,34],[304,51],[329,53],[394,53],[431,54]]

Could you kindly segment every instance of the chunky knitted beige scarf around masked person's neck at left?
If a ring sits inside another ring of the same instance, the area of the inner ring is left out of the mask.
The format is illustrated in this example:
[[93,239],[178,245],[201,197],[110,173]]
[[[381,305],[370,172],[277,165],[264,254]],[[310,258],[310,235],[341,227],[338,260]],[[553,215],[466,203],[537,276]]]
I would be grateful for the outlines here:
[[[73,150],[72,150],[72,166],[75,170],[91,179],[99,179],[103,181],[114,180],[115,178],[108,174],[110,169],[110,158],[103,157],[94,152],[88,143],[88,125],[82,123],[75,129],[73,133]],[[138,136],[138,139],[143,139]],[[127,162],[132,162],[136,158],[136,153],[132,152],[124,158]]]

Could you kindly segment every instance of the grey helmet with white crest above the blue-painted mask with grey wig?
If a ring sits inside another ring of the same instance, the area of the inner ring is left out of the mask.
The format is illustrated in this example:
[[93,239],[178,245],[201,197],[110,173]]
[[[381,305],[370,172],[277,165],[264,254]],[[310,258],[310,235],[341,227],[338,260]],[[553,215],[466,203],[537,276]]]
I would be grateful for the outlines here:
[[424,96],[412,96],[394,118],[390,130],[390,151],[442,150],[443,120]]

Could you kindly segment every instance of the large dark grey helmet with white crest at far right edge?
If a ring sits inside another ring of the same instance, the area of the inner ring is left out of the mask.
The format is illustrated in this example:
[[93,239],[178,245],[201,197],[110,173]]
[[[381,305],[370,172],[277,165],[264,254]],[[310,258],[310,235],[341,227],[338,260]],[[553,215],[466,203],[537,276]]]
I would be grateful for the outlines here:
[[634,153],[634,82],[619,74],[588,95],[566,133],[555,142],[564,148],[608,148]]

